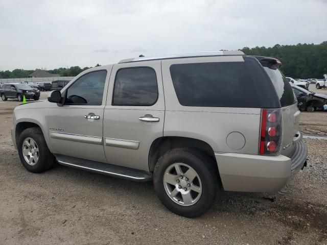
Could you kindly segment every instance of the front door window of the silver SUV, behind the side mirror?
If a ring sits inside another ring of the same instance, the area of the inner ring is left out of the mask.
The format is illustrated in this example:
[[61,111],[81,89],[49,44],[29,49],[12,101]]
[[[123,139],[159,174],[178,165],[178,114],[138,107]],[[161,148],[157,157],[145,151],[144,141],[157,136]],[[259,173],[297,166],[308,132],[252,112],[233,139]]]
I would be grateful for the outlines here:
[[106,76],[107,71],[100,70],[90,72],[76,80],[67,89],[65,104],[100,106],[102,104]]

